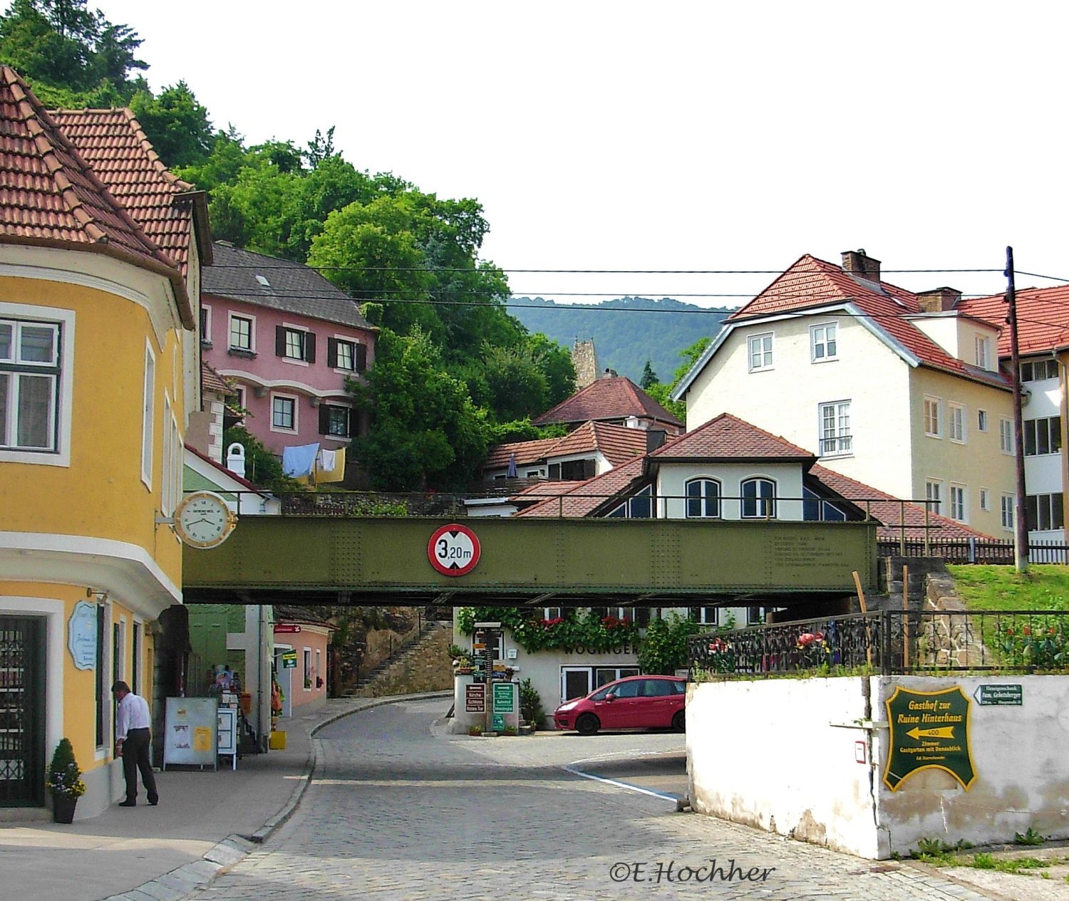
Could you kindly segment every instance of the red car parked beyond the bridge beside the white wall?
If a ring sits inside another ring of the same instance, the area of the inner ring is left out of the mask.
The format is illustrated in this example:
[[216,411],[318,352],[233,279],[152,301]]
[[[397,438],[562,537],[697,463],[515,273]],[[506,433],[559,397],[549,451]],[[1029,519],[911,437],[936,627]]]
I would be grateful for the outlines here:
[[629,675],[554,711],[558,729],[593,735],[599,729],[685,728],[686,680],[678,675]]

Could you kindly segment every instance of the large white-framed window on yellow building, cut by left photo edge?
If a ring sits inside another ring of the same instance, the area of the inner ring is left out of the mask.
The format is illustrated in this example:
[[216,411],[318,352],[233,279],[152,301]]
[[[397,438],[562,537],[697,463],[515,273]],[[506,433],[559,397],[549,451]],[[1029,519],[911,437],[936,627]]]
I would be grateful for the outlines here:
[[0,320],[0,448],[59,448],[59,323]]

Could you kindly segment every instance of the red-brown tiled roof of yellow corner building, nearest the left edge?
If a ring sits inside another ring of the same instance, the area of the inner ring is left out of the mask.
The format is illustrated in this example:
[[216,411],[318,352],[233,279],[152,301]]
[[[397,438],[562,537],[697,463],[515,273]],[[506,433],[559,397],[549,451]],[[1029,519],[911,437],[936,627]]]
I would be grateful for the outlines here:
[[165,276],[193,327],[182,274],[10,66],[0,66],[0,242],[104,253]]

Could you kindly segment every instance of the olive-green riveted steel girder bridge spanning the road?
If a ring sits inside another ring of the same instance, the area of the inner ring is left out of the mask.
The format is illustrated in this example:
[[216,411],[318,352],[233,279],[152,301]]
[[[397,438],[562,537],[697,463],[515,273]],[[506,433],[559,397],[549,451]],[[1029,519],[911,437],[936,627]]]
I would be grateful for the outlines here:
[[[478,541],[478,553],[458,552],[463,575],[431,562],[446,546],[431,539],[450,524]],[[854,571],[874,590],[876,529],[871,521],[243,516],[218,547],[185,548],[183,591],[187,603],[214,604],[656,607],[775,597],[789,606],[852,594]]]

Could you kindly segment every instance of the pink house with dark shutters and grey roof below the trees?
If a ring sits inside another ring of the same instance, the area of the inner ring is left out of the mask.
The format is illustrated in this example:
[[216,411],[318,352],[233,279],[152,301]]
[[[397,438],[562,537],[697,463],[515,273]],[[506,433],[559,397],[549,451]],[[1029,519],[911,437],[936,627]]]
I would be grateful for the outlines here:
[[365,378],[376,332],[314,269],[215,243],[201,291],[203,357],[237,386],[245,428],[274,453],[337,450],[367,432],[345,380]]

